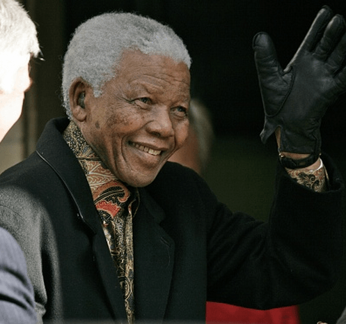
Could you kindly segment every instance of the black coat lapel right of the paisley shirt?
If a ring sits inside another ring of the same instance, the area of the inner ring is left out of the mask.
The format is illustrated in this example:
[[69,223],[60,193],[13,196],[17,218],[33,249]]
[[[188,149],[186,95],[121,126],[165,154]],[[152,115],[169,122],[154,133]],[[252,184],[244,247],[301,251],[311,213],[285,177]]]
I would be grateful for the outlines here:
[[136,319],[162,321],[174,265],[175,245],[159,225],[164,211],[145,189],[134,217],[134,300]]

